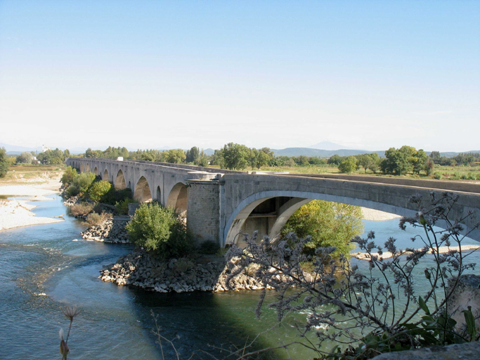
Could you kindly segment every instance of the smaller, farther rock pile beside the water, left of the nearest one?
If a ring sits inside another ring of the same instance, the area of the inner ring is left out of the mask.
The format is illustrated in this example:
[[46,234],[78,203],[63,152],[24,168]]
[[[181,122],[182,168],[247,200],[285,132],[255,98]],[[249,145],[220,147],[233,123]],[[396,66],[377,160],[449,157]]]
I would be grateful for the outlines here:
[[82,232],[82,238],[86,240],[103,241],[105,243],[127,244],[129,238],[127,234],[128,219],[109,218],[98,226],[91,226]]

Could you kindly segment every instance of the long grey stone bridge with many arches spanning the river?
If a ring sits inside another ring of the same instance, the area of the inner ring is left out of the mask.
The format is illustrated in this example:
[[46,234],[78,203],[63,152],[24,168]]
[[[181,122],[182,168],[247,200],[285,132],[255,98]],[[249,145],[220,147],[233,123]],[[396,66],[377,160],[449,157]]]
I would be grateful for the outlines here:
[[[199,243],[237,243],[240,231],[258,230],[260,236],[275,237],[287,219],[313,199],[413,216],[418,208],[408,203],[411,195],[420,193],[427,205],[431,191],[450,191],[460,198],[449,219],[473,212],[463,223],[466,231],[480,222],[479,184],[342,174],[235,172],[100,158],[69,158],[67,165],[81,172],[94,172],[117,189],[130,188],[140,202],[157,200],[175,207],[186,215],[188,231]],[[480,230],[472,230],[469,237],[480,241]]]

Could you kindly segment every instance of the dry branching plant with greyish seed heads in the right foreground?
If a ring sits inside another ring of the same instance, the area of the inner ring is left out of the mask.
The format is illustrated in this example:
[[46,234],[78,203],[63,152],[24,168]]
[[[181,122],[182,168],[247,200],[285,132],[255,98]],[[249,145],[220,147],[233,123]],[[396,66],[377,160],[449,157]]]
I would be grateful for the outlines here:
[[[254,233],[251,238],[246,237],[245,250],[229,250],[228,257],[240,257],[241,261],[227,283],[249,264],[259,265],[257,276],[264,289],[277,292],[278,301],[269,307],[277,311],[279,321],[290,311],[306,311],[309,315],[301,336],[312,331],[317,341],[313,344],[305,337],[303,345],[322,357],[370,359],[383,352],[478,340],[472,311],[464,311],[467,328],[462,330],[455,327],[448,309],[448,299],[460,276],[475,266],[464,261],[469,254],[461,248],[469,232],[462,235],[460,223],[472,213],[455,221],[448,219],[457,200],[458,196],[451,193],[431,193],[428,204],[420,195],[410,198],[410,203],[417,204],[418,212],[415,217],[403,217],[400,227],[405,230],[406,224],[410,224],[421,230],[412,238],[422,240],[421,250],[398,249],[396,239],[389,238],[384,246],[392,257],[383,259],[383,248],[373,241],[375,233],[371,231],[365,239],[353,239],[368,253],[365,274],[344,256],[334,259],[333,247],[316,248],[314,255],[306,254],[304,247],[311,241],[309,237],[297,238],[290,233],[275,243],[268,237],[257,243]],[[434,229],[439,221],[445,221],[446,229]],[[476,224],[472,231],[479,227]],[[453,245],[458,248],[452,248]],[[448,247],[448,252],[442,254],[442,246]],[[312,264],[310,274],[303,271],[305,262]],[[421,288],[419,273],[427,278],[427,289]],[[257,316],[265,295],[266,290],[262,290]],[[337,346],[326,352],[326,342]]]

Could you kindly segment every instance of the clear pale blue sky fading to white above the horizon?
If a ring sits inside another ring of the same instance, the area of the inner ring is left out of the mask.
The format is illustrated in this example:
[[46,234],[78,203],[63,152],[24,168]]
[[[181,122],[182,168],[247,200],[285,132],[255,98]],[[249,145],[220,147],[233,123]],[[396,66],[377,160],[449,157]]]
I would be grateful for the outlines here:
[[480,1],[0,0],[0,143],[480,150]]

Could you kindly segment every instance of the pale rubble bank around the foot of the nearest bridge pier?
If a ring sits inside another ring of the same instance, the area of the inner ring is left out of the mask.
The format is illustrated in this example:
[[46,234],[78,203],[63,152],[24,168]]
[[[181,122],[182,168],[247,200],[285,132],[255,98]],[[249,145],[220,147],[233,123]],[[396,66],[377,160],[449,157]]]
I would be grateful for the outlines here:
[[223,257],[198,257],[197,259],[160,260],[147,252],[133,252],[121,257],[115,264],[100,271],[103,281],[117,285],[134,285],[159,293],[186,293],[191,291],[257,290],[263,288],[254,277],[254,264],[232,278],[228,288],[226,278],[239,262],[233,258],[228,263]]

